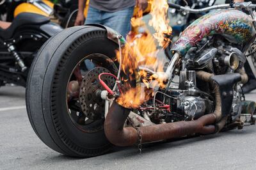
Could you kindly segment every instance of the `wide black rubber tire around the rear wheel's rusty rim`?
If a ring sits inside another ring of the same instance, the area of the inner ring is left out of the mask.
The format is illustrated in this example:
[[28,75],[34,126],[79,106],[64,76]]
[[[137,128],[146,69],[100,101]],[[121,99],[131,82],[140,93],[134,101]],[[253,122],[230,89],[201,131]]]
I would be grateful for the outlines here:
[[105,29],[79,26],[58,33],[38,51],[28,76],[26,107],[33,129],[47,146],[72,157],[92,157],[111,149],[104,130],[86,133],[72,123],[64,82],[84,56],[101,53],[115,57],[117,48]]

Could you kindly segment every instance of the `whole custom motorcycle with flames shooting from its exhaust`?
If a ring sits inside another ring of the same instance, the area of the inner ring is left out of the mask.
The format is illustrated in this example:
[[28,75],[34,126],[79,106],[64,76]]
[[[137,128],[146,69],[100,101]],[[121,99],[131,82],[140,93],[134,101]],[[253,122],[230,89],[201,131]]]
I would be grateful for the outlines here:
[[[95,24],[71,27],[45,43],[29,73],[26,105],[33,129],[47,146],[91,157],[113,145],[141,148],[255,123],[255,103],[244,101],[237,88],[248,81],[243,65],[255,40],[256,4],[196,10],[154,1],[149,24],[163,48],[172,33],[169,6],[190,13],[215,11],[195,20],[172,43],[167,66],[156,58],[150,36],[129,36],[125,42],[113,29]],[[86,68],[86,59],[94,68]]]

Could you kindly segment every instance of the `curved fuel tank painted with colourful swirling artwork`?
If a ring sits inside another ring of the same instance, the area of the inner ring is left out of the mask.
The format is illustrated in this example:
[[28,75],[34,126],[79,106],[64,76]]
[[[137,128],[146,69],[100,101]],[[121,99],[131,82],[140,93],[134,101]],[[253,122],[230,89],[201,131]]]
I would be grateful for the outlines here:
[[188,50],[200,42],[202,38],[221,35],[229,42],[243,45],[255,38],[252,18],[239,10],[214,10],[195,20],[188,26],[171,50],[184,56]]

